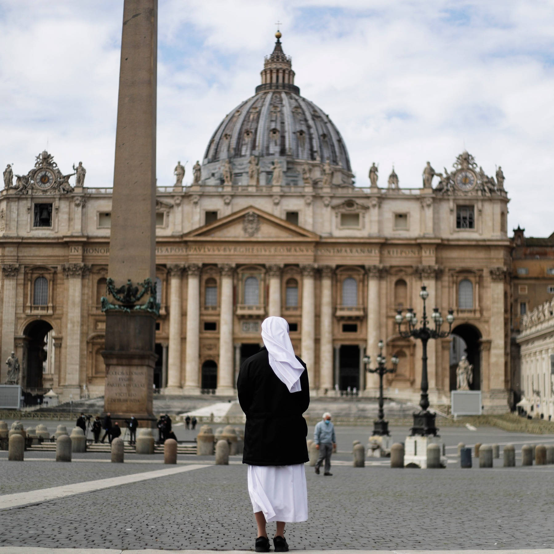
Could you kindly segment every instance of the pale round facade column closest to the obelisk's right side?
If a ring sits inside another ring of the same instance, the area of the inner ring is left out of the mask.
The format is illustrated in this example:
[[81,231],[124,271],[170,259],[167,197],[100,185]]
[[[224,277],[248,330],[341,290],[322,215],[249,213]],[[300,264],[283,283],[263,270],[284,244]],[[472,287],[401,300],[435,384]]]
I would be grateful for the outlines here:
[[[182,394],[181,388],[181,335],[182,335],[182,297],[181,276],[184,265],[168,266],[170,274],[170,343],[167,358],[166,394]],[[188,315],[187,315],[188,317]]]

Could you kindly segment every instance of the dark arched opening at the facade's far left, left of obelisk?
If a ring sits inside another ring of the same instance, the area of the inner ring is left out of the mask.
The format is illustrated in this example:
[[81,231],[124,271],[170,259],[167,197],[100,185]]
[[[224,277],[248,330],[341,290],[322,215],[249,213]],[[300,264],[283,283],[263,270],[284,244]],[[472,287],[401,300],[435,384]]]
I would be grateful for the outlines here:
[[52,331],[47,321],[30,322],[23,331],[23,388],[33,394],[42,394],[43,368],[47,361],[46,336]]

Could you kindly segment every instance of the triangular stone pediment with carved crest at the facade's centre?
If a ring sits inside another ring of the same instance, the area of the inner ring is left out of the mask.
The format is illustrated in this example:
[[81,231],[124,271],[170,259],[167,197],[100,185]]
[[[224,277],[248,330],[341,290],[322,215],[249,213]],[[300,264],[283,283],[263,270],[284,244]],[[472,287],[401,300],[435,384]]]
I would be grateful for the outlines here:
[[262,209],[249,206],[221,219],[193,229],[186,239],[263,239],[263,240],[319,240],[319,235],[289,223]]

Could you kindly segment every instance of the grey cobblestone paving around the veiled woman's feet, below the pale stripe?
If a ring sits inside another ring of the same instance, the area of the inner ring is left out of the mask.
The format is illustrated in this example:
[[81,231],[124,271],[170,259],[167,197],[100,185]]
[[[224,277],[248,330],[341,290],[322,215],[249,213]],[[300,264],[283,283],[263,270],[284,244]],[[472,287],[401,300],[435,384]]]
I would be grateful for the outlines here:
[[[332,471],[327,478],[306,468],[309,521],[288,525],[291,548],[554,546],[552,467]],[[244,465],[210,466],[1,511],[0,529],[0,546],[253,550],[255,538]]]

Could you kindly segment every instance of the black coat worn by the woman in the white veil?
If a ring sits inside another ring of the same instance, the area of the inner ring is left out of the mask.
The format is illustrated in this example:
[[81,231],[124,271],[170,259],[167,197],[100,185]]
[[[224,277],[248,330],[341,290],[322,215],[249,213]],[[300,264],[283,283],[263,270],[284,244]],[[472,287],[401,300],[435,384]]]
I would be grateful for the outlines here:
[[237,380],[239,403],[246,414],[243,464],[294,465],[309,461],[306,420],[310,404],[306,364],[299,392],[289,392],[271,369],[265,347],[240,367]]

